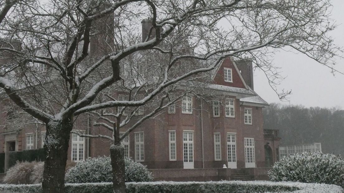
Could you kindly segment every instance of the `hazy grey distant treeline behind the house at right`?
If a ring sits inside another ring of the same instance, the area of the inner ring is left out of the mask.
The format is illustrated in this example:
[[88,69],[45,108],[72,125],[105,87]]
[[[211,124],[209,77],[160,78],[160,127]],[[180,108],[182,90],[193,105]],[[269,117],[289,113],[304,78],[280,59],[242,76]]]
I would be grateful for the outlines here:
[[264,128],[279,129],[281,145],[320,142],[324,153],[344,155],[344,110],[272,103]]

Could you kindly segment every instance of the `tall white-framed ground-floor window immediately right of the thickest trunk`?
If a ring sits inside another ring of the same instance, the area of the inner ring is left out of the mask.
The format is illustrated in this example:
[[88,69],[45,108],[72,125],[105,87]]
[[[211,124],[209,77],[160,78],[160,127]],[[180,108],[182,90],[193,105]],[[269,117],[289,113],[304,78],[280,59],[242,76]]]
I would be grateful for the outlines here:
[[85,139],[72,133],[72,161],[80,162],[85,158]]

